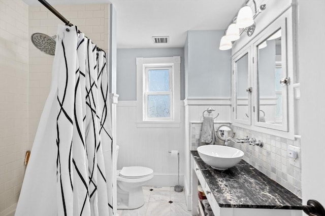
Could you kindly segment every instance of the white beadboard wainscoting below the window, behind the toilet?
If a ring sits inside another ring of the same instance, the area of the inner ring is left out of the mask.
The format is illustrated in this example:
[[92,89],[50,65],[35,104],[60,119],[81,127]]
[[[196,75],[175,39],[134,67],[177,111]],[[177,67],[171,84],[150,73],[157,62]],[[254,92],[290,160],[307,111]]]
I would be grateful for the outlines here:
[[[180,153],[180,185],[184,175],[184,106],[180,109],[178,127],[137,127],[137,102],[119,101],[117,104],[117,145],[120,146],[117,168],[146,166],[155,177],[150,186],[177,185],[177,157],[169,151]],[[187,153],[187,152],[186,152]]]

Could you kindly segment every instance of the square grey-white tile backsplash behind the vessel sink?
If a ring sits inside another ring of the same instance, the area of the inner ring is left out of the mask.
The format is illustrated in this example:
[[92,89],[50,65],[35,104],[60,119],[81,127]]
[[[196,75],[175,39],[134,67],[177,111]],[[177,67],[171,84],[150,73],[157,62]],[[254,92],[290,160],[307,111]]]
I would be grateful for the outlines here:
[[[215,123],[215,129],[221,124]],[[200,134],[202,122],[191,122],[191,150],[196,150],[198,146],[204,145],[200,143]],[[245,155],[243,159],[254,166],[259,171],[263,172],[270,179],[276,181],[289,191],[302,197],[301,194],[301,168],[290,164],[290,158],[287,156],[289,145],[300,148],[300,139],[289,140],[276,137],[269,134],[250,131],[246,128],[232,126],[235,132],[235,137],[255,138],[261,140],[264,144],[263,148],[251,146],[248,143],[229,142],[229,146],[241,149]],[[217,138],[218,139],[218,138]],[[223,145],[223,141],[216,142],[217,145]],[[298,160],[300,160],[298,155]],[[299,161],[301,162],[301,161]]]

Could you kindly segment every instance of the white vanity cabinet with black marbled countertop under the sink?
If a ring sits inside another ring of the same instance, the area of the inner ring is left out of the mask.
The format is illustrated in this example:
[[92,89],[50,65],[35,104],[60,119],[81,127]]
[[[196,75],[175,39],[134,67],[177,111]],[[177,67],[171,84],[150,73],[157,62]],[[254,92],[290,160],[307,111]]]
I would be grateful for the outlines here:
[[245,161],[213,169],[191,151],[192,215],[198,215],[198,182],[216,216],[302,216],[302,200]]

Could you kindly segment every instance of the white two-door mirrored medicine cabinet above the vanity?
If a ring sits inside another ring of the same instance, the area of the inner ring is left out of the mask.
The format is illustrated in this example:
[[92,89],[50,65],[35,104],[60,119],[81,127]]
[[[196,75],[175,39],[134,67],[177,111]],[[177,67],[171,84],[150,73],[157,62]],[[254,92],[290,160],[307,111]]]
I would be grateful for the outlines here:
[[292,42],[292,31],[287,27],[288,19],[279,17],[233,54],[234,125],[250,125],[248,128],[257,131],[289,131],[288,91],[293,53],[288,52],[292,50],[287,45],[288,39]]

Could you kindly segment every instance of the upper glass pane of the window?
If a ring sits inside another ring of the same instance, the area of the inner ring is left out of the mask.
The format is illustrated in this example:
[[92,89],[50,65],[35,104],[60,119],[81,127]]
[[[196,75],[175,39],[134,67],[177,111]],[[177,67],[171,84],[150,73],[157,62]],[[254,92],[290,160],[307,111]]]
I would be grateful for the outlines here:
[[149,70],[149,92],[169,92],[169,69]]

